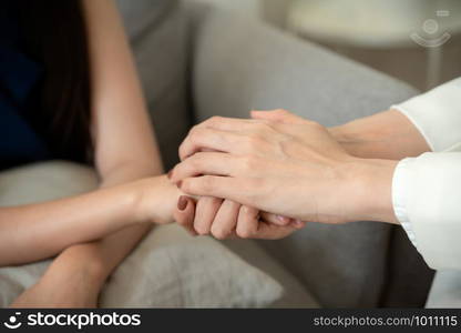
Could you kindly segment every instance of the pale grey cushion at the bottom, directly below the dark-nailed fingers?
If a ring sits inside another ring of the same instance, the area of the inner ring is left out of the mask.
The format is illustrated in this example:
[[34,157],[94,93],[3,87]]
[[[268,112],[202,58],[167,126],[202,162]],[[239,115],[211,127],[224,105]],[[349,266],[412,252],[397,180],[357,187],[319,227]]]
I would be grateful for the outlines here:
[[154,229],[114,272],[102,307],[265,307],[281,285],[212,238]]

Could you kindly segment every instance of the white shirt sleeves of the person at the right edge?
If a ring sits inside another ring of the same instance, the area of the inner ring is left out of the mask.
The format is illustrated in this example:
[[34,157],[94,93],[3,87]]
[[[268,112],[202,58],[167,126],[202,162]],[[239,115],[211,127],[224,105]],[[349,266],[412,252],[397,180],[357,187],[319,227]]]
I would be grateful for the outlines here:
[[433,152],[399,162],[396,216],[433,269],[461,269],[461,78],[393,105]]

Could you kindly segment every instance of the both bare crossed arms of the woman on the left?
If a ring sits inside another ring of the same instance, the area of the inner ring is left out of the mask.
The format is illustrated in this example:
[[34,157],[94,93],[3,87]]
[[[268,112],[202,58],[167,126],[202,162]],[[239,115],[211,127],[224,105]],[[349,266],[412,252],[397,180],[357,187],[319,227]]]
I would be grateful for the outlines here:
[[[83,195],[0,208],[0,266],[58,255],[12,306],[95,307],[107,276],[153,223],[173,222],[181,194],[162,174],[115,6],[110,0],[83,0],[83,9],[92,69],[94,167],[101,183]],[[207,201],[201,204],[205,219],[211,211]],[[219,212],[221,205],[213,210]],[[265,216],[284,224],[280,229],[293,229],[286,225],[289,219]]]

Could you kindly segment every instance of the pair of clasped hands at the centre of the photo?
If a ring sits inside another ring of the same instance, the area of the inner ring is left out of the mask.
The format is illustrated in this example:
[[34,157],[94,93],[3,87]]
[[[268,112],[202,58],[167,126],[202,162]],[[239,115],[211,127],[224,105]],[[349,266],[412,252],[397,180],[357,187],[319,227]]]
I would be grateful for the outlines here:
[[168,179],[186,194],[174,218],[192,234],[274,240],[306,222],[385,220],[379,209],[367,214],[370,191],[388,190],[370,188],[367,174],[388,169],[350,155],[328,129],[288,111],[250,118],[211,118],[180,147]]

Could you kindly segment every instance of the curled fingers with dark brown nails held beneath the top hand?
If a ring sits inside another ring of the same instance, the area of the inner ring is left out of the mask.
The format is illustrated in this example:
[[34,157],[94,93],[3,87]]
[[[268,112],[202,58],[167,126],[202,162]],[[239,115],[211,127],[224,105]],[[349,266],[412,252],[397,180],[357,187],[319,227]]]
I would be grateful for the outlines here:
[[174,218],[192,235],[212,234],[218,240],[229,238],[281,239],[305,226],[301,221],[260,213],[257,209],[232,200],[212,196],[194,199],[182,195]]

